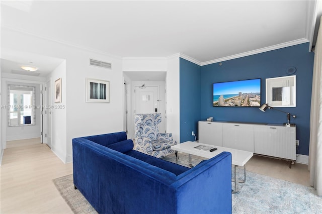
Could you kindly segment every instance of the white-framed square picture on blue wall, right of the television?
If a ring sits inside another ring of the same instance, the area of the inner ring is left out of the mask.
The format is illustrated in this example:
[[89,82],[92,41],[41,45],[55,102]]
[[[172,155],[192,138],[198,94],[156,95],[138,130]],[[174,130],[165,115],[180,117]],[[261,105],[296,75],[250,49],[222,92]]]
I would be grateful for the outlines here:
[[296,76],[266,79],[266,103],[274,107],[296,107]]

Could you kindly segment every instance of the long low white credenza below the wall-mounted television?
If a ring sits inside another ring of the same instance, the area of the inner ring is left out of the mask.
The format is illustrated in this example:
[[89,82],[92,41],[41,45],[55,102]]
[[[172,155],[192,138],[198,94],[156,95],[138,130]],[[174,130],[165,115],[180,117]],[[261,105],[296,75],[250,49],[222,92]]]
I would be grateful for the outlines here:
[[296,160],[296,127],[199,121],[199,142]]

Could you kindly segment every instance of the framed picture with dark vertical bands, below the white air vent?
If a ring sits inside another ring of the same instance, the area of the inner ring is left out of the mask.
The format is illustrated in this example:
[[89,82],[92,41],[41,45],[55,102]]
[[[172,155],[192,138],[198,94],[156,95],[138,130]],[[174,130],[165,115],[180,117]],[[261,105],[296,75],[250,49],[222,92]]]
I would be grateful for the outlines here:
[[110,81],[87,78],[86,102],[110,102]]

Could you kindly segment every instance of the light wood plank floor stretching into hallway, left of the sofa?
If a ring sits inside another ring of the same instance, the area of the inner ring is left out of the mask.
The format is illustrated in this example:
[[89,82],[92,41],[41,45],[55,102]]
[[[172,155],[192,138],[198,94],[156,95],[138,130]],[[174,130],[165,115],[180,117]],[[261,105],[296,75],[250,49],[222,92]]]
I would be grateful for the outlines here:
[[71,174],[72,163],[62,163],[40,140],[8,145],[0,171],[0,213],[72,213],[52,182]]

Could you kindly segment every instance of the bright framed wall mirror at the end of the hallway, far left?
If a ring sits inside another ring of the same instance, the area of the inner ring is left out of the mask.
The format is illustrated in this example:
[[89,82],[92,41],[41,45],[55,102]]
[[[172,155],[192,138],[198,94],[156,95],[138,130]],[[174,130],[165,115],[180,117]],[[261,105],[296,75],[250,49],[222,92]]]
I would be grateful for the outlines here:
[[9,126],[35,125],[35,87],[8,85]]

